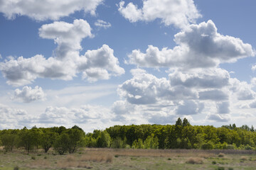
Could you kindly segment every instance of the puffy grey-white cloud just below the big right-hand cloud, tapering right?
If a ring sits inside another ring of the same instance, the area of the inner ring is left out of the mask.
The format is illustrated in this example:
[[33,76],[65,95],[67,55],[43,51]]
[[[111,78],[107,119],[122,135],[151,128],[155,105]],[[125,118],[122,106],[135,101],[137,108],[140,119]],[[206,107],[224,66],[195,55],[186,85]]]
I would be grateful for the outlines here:
[[[138,71],[137,71],[138,70]],[[132,70],[132,79],[119,85],[119,95],[132,104],[153,104],[159,100],[183,100],[196,98],[191,89],[181,86],[172,87],[166,78],[158,79],[141,69]]]

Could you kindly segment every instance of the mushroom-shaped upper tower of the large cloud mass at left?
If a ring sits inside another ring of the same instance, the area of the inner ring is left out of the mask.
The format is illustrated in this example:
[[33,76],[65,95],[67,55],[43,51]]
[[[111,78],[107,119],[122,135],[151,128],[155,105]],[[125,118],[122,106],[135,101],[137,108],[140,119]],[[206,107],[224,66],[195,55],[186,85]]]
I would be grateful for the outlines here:
[[78,55],[77,52],[82,49],[82,39],[93,36],[89,23],[82,19],[76,19],[73,23],[55,21],[43,25],[39,28],[39,35],[41,38],[53,39],[58,44],[55,54],[59,58]]

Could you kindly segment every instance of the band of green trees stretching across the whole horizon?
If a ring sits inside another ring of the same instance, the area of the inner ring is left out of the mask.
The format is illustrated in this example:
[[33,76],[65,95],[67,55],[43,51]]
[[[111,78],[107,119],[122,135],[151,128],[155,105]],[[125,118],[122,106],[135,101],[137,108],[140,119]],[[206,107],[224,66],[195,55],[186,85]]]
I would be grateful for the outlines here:
[[178,118],[175,125],[114,125],[85,133],[77,125],[53,128],[0,130],[0,145],[5,152],[14,148],[34,152],[53,148],[58,154],[74,153],[80,147],[127,149],[256,149],[253,126],[191,125]]

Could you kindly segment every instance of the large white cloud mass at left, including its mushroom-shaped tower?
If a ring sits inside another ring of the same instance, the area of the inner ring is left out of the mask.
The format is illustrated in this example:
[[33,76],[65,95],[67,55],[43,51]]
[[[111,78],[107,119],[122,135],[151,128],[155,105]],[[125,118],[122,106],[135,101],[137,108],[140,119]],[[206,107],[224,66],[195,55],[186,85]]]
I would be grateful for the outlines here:
[[58,44],[55,57],[46,59],[42,55],[31,58],[10,58],[0,62],[0,70],[7,84],[23,86],[31,84],[37,78],[71,80],[82,72],[82,78],[88,81],[110,79],[111,76],[124,74],[119,67],[114,50],[102,45],[97,50],[88,50],[80,56],[82,38],[92,37],[87,21],[75,20],[73,23],[54,22],[39,29],[42,38],[53,39]]

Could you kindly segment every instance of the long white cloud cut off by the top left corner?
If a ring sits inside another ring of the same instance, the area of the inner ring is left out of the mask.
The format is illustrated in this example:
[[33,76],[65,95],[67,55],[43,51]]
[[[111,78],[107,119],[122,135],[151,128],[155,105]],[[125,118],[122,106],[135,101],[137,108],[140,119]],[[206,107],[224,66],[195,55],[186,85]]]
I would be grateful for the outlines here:
[[6,18],[9,19],[13,19],[16,16],[28,16],[37,21],[58,20],[60,17],[69,16],[75,11],[90,12],[94,15],[97,6],[101,3],[102,0],[0,0],[0,12],[4,13]]

